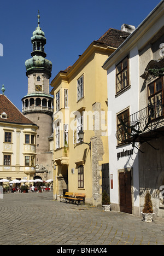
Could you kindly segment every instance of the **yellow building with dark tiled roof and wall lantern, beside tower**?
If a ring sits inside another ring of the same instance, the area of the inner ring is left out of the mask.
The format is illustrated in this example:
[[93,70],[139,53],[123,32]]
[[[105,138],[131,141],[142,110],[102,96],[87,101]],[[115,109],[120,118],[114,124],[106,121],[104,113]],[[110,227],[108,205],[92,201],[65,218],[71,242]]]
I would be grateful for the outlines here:
[[[129,34],[110,28],[89,45],[73,66],[60,71],[51,82],[54,199],[63,190],[85,193],[86,202],[97,206],[101,204],[102,190],[109,192],[102,171],[106,169],[109,176],[107,73],[102,65]],[[82,144],[79,131],[85,133]]]

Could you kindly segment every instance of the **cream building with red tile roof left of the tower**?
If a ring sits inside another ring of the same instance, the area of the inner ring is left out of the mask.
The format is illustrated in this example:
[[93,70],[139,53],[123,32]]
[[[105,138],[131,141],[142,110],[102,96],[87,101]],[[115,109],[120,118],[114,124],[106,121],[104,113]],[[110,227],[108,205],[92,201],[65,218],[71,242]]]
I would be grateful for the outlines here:
[[35,173],[37,125],[0,95],[0,179],[31,179]]

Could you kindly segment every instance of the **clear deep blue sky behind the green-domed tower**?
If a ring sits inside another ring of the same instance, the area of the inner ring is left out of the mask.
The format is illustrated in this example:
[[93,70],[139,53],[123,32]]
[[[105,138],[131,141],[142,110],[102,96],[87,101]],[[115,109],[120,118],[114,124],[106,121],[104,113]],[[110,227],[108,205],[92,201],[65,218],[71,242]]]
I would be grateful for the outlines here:
[[27,95],[25,61],[31,58],[38,9],[40,27],[47,39],[46,59],[52,62],[51,82],[110,27],[120,30],[124,23],[137,27],[159,3],[160,0],[1,1],[0,89],[4,84],[5,95],[22,110],[21,98]]

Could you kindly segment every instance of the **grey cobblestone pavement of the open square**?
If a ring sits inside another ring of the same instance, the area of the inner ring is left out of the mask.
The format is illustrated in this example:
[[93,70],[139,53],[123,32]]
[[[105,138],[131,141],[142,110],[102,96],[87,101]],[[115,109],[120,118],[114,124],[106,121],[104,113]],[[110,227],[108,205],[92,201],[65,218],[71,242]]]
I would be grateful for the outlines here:
[[50,193],[4,194],[0,245],[164,245],[164,224],[54,201]]

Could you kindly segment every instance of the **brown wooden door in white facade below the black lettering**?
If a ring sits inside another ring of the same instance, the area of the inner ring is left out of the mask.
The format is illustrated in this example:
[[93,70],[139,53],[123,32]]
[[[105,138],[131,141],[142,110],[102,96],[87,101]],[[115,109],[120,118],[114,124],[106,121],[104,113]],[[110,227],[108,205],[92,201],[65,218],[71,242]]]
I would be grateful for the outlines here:
[[132,213],[131,172],[119,173],[120,211]]

